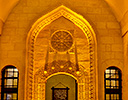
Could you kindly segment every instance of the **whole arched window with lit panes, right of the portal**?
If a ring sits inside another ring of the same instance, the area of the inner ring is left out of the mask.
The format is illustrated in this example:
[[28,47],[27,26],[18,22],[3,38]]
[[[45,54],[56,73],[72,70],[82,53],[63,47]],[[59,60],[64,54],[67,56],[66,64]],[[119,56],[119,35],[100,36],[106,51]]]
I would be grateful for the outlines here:
[[105,70],[105,100],[122,100],[121,71],[116,67]]

